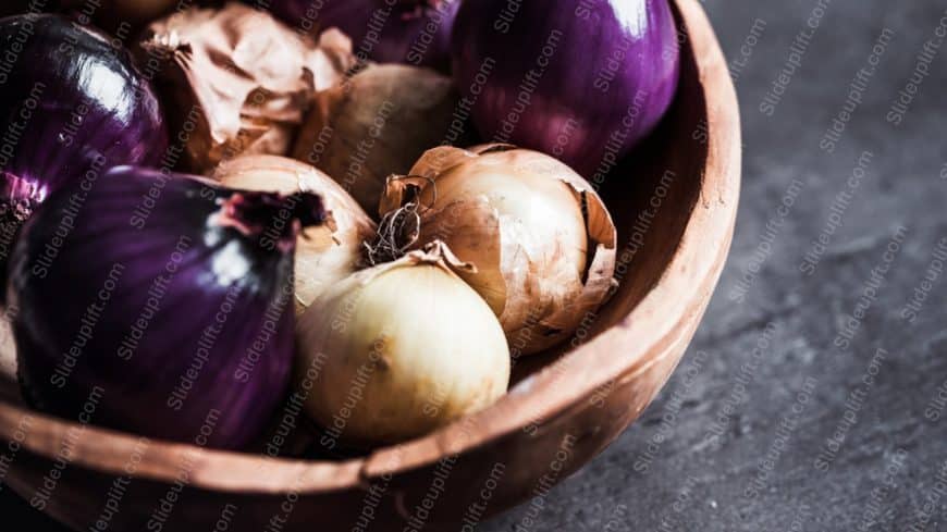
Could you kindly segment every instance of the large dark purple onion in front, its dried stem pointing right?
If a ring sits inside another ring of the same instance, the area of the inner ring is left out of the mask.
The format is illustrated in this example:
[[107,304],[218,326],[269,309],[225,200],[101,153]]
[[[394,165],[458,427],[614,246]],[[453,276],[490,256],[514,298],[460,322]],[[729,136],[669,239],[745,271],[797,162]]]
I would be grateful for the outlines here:
[[[157,203],[143,211],[149,197]],[[10,263],[25,398],[83,421],[98,389],[96,424],[244,447],[288,385],[293,247],[300,226],[323,218],[313,195],[137,168],[113,169],[88,191],[57,190]]]

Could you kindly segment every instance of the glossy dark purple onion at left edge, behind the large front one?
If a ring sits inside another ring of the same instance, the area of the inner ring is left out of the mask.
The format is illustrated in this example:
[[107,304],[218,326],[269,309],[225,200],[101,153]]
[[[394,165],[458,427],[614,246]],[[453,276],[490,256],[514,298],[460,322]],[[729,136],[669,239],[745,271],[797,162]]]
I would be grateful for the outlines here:
[[0,49],[16,57],[0,67],[0,173],[22,184],[3,199],[38,202],[89,172],[161,161],[158,99],[104,34],[59,15],[17,15],[0,20]]

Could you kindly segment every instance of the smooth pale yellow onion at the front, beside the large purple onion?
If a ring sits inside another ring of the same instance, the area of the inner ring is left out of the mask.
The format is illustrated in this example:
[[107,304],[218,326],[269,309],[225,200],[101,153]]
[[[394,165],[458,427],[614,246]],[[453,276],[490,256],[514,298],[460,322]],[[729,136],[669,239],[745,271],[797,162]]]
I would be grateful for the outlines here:
[[454,273],[470,268],[432,243],[355,273],[303,314],[297,373],[317,374],[306,410],[323,446],[419,436],[506,392],[503,330]]

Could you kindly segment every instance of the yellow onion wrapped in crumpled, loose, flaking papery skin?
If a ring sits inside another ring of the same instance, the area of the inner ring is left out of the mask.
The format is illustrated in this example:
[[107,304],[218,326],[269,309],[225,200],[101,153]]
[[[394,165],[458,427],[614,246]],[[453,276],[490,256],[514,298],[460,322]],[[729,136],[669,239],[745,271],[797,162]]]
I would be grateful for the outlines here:
[[315,42],[231,2],[153,22],[138,62],[174,110],[168,116],[184,144],[184,165],[205,173],[239,153],[287,154],[312,91],[339,83],[355,57],[339,30]]

